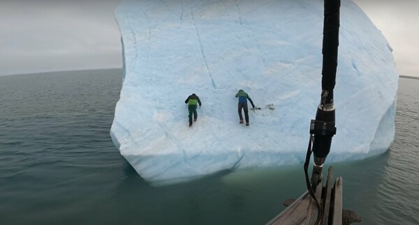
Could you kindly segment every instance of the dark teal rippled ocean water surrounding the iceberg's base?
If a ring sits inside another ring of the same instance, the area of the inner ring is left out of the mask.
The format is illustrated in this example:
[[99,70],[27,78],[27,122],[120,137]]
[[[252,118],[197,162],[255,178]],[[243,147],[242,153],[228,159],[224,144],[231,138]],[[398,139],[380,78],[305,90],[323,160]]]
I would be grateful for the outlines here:
[[[302,165],[150,186],[110,139],[121,79],[120,70],[0,77],[0,224],[265,224],[305,191]],[[417,96],[419,79],[401,78],[388,152],[332,164],[360,224],[419,224]]]

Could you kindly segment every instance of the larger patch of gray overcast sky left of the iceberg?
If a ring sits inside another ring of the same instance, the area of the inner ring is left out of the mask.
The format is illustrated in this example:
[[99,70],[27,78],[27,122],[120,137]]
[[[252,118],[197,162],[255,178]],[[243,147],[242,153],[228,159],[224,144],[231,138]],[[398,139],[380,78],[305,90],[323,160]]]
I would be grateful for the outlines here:
[[121,68],[119,0],[1,0],[0,75]]

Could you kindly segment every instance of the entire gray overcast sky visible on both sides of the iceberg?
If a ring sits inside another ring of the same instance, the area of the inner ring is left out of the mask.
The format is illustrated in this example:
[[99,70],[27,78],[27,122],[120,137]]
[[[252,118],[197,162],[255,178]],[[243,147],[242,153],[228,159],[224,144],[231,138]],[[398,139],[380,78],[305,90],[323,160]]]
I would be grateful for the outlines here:
[[[394,49],[397,72],[419,77],[419,1],[353,0]],[[1,0],[0,75],[121,68],[119,0]]]

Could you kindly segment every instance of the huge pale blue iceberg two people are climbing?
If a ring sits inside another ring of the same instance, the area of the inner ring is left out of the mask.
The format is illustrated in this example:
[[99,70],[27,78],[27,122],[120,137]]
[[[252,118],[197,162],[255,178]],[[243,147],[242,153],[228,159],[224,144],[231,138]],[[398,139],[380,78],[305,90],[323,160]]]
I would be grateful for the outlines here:
[[[340,11],[328,163],[381,154],[395,136],[392,48],[353,1]],[[323,1],[122,0],[115,19],[124,68],[110,135],[142,178],[304,162],[321,95]],[[249,127],[239,123],[240,89],[260,108]],[[191,93],[202,107],[189,127]]]

